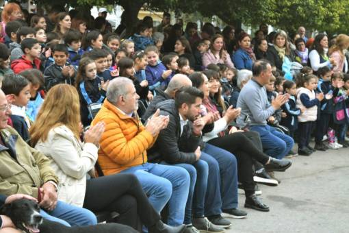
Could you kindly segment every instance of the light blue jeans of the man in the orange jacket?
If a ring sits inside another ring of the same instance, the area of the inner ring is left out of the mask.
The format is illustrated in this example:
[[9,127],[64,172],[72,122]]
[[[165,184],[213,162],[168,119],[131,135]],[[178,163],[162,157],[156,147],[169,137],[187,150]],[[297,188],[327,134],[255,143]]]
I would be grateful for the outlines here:
[[190,185],[188,171],[181,167],[146,162],[122,173],[133,173],[138,177],[157,212],[161,212],[168,202],[169,225],[183,224]]

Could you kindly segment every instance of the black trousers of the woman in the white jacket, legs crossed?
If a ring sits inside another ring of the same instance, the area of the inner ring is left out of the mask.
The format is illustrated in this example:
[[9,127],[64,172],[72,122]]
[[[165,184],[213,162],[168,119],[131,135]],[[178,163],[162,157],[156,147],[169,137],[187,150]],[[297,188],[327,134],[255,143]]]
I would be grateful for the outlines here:
[[150,227],[160,220],[133,174],[106,175],[88,180],[83,208],[92,212],[116,211],[120,214],[117,223],[136,230],[140,230],[142,224]]

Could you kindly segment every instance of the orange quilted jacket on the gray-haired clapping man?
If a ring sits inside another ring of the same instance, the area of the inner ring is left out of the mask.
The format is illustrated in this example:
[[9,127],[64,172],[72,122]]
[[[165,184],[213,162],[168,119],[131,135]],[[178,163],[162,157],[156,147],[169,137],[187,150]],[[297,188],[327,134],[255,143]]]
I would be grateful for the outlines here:
[[147,161],[146,149],[153,146],[156,137],[145,130],[138,116],[123,114],[105,99],[91,125],[99,121],[105,122],[98,158],[104,175],[119,173]]

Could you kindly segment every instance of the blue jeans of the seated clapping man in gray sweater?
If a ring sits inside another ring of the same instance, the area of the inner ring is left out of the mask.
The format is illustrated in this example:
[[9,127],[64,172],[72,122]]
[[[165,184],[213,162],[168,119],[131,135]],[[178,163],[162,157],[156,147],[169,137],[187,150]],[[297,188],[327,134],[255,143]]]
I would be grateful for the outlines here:
[[263,151],[273,158],[283,159],[294,147],[294,139],[274,129],[270,125],[253,125],[250,130],[259,132]]

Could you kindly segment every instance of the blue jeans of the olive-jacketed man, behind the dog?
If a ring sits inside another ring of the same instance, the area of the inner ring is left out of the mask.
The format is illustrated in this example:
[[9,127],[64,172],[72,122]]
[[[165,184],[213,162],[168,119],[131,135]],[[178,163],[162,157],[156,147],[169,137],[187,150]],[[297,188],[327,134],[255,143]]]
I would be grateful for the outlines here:
[[66,204],[63,201],[57,201],[54,210],[45,212],[40,210],[40,214],[45,219],[62,223],[66,226],[96,225],[97,219],[93,212],[85,208]]

